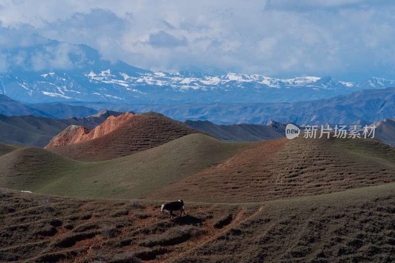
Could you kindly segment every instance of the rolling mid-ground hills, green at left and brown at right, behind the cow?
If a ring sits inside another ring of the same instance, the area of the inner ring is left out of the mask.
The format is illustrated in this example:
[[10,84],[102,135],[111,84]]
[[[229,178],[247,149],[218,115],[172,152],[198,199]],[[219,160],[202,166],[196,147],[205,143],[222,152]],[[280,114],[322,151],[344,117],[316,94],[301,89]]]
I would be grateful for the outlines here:
[[391,182],[395,149],[365,139],[226,143],[191,134],[101,162],[79,162],[40,148],[0,157],[2,186],[78,197],[259,202]]

